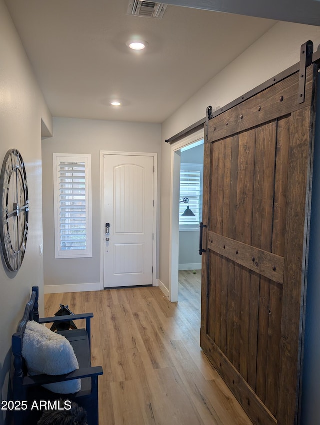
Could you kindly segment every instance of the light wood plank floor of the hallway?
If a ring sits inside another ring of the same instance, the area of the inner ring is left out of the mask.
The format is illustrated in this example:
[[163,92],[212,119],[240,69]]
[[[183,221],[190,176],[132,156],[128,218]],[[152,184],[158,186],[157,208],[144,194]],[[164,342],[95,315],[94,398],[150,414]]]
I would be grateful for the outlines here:
[[252,425],[200,349],[200,294],[200,271],[182,271],[178,303],[158,287],[45,295],[46,316],[94,314],[100,425]]

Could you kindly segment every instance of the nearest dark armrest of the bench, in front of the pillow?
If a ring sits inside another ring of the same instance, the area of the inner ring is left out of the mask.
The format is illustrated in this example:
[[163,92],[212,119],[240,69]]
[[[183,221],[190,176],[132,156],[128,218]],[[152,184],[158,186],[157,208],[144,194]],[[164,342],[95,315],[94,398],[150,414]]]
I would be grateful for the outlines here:
[[23,378],[23,386],[33,385],[46,385],[48,383],[65,382],[73,379],[82,379],[92,376],[103,375],[102,366],[84,367],[82,369],[76,369],[73,372],[66,373],[65,375],[33,375],[25,376]]

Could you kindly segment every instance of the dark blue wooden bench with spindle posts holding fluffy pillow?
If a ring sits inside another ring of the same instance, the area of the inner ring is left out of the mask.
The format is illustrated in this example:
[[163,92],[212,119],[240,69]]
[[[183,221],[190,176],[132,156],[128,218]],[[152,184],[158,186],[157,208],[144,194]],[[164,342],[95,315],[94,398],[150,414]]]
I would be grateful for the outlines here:
[[[13,378],[12,389],[15,405],[19,401],[26,401],[28,408],[26,410],[14,410],[14,425],[24,425],[28,423],[36,424],[41,417],[42,412],[37,409],[30,409],[34,400],[59,400],[68,399],[76,402],[83,407],[88,415],[88,425],[98,425],[98,376],[103,374],[101,366],[91,366],[91,326],[90,320],[93,313],[73,314],[72,320],[85,319],[84,329],[64,330],[58,332],[65,336],[73,347],[74,353],[79,363],[79,369],[64,375],[33,375],[28,374],[27,366],[22,357],[23,333],[28,320],[34,320],[38,323],[54,323],[69,321],[70,316],[54,316],[39,318],[38,313],[38,286],[32,287],[30,300],[25,306],[24,315],[18,324],[17,332],[12,336],[13,360]],[[81,390],[75,394],[57,394],[53,393],[41,385],[64,382],[73,379],[81,379]]]

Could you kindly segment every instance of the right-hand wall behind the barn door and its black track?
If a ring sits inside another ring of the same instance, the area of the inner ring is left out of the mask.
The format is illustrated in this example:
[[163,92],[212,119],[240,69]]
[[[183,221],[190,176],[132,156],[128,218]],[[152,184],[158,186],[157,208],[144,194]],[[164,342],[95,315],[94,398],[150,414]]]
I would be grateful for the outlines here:
[[[164,289],[169,289],[170,246],[169,234],[163,224],[169,221],[169,211],[172,208],[170,204],[171,146],[165,143],[165,139],[203,118],[207,106],[212,105],[213,109],[223,107],[297,63],[300,46],[309,39],[314,42],[316,50],[320,43],[319,27],[278,22],[162,124],[159,279],[164,285]],[[313,214],[316,214],[314,208]],[[316,234],[319,235],[319,233],[316,228]],[[312,294],[315,302],[313,300],[310,308],[307,308],[308,328],[305,346],[307,361],[304,363],[305,383],[303,385],[301,425],[320,423],[320,408],[318,407],[320,399],[320,332],[318,330],[320,314],[316,313],[320,303],[318,252],[319,249],[316,253],[313,250],[314,257],[310,261],[311,266],[313,264],[313,270],[312,277],[309,277],[309,285],[313,279]]]

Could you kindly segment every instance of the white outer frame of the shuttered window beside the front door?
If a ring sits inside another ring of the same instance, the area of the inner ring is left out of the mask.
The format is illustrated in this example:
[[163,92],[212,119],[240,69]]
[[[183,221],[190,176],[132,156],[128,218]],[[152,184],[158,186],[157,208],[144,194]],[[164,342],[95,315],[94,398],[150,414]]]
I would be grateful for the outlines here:
[[[59,164],[61,162],[84,162],[86,186],[86,249],[60,249],[60,220],[59,220]],[[54,242],[55,258],[88,258],[92,257],[92,184],[91,184],[91,155],[75,153],[53,153],[53,202],[54,202]]]

